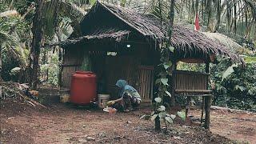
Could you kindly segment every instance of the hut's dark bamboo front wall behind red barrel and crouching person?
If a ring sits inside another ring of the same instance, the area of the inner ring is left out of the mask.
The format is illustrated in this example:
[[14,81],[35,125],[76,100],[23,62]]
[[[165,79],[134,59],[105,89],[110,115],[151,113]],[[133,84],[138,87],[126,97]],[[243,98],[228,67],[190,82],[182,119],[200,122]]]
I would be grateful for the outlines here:
[[[117,98],[118,90],[115,83],[118,79],[124,79],[130,86],[134,86],[138,90],[142,96],[142,102],[151,103],[154,83],[154,57],[145,50],[142,49],[135,54],[119,53],[117,56],[106,56],[106,51],[89,52],[92,71],[97,75],[99,83],[98,93],[107,93],[111,97]],[[84,54],[86,52],[82,48],[65,50],[62,65],[62,88],[70,88],[71,76],[76,70],[81,70]]]

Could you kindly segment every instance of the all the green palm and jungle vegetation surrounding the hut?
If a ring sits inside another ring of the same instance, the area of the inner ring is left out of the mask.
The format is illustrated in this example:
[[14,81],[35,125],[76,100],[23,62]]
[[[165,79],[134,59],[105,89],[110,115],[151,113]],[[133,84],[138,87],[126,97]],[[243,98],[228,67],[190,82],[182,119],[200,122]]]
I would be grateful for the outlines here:
[[[21,78],[23,73],[19,72],[25,70],[26,66],[29,65],[32,42],[31,28],[36,2],[35,0],[0,0],[1,76],[5,81],[23,82],[24,80]],[[68,38],[78,26],[83,15],[86,14],[86,10],[89,10],[94,2],[96,1],[45,1],[42,13],[47,17],[43,19],[42,44]],[[170,1],[166,0],[113,0],[104,2],[112,2],[138,12],[154,14],[159,18],[161,17],[163,21],[170,18]],[[211,66],[211,78],[216,95],[214,104],[218,106],[255,111],[255,7],[255,2],[250,0],[176,0],[175,2],[175,22],[192,28],[193,25],[190,24],[194,24],[194,14],[198,13],[202,31],[226,34],[244,47],[242,50],[238,50],[238,53],[246,55],[247,66],[245,70],[242,70],[240,66],[232,66],[228,60],[222,58],[218,59],[218,65]],[[14,13],[6,13],[10,10],[14,10],[11,11]],[[66,13],[66,11],[70,11],[70,13]],[[42,48],[41,51],[39,83],[58,86],[61,60],[59,56],[62,54],[62,50],[57,46],[49,50]],[[168,61],[166,63],[168,64]],[[182,65],[180,68],[204,70],[202,65]],[[223,74],[226,76],[223,77]],[[166,83],[166,80],[162,79],[160,82]],[[163,91],[165,93],[166,90]]]

